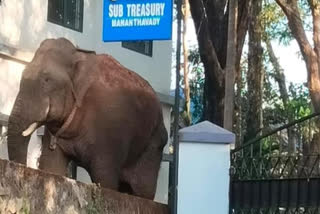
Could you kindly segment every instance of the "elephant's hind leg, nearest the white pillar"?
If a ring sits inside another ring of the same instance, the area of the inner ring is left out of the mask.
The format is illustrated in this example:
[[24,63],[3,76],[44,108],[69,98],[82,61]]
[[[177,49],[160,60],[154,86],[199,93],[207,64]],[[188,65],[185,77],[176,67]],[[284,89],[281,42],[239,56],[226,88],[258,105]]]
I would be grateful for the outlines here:
[[157,178],[162,160],[163,147],[167,143],[167,132],[160,127],[152,136],[148,148],[138,161],[122,170],[121,180],[131,186],[133,195],[154,199]]

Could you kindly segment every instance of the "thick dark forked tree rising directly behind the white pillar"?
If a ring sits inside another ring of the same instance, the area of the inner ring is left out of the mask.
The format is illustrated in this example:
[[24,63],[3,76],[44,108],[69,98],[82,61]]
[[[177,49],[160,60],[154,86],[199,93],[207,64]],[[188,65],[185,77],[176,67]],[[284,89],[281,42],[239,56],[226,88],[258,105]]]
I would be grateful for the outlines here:
[[[228,43],[228,1],[190,0],[189,2],[205,70],[202,119],[222,125]],[[236,70],[240,67],[242,48],[248,29],[250,3],[251,0],[241,0],[238,3]]]

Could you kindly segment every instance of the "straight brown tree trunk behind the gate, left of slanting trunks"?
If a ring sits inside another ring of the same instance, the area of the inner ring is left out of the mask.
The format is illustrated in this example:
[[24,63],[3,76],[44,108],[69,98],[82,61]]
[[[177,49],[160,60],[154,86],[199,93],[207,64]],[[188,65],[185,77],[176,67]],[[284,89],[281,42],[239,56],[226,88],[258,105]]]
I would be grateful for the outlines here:
[[263,95],[263,48],[261,46],[262,32],[259,15],[262,1],[252,2],[249,23],[249,53],[248,53],[248,114],[247,131],[244,140],[248,141],[261,134],[262,131],[262,95]]

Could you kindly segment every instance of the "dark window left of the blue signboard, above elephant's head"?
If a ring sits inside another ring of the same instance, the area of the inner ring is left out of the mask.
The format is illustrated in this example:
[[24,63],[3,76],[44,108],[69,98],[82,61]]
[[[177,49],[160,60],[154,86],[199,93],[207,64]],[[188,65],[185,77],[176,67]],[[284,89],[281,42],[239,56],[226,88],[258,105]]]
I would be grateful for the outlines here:
[[48,0],[48,21],[82,32],[83,0]]

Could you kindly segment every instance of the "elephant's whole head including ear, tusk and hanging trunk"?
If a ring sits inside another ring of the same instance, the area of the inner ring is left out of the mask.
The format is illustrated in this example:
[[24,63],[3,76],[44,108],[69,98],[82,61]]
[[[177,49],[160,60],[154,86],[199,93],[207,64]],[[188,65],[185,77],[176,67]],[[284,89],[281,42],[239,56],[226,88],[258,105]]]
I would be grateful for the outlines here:
[[41,43],[23,71],[19,93],[9,117],[10,160],[25,164],[30,135],[41,125],[47,125],[54,134],[73,106],[81,105],[90,84],[86,73],[79,72],[85,57],[87,54],[63,38]]

